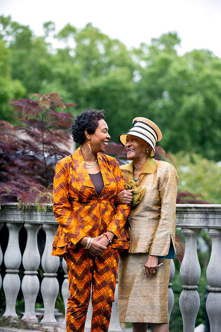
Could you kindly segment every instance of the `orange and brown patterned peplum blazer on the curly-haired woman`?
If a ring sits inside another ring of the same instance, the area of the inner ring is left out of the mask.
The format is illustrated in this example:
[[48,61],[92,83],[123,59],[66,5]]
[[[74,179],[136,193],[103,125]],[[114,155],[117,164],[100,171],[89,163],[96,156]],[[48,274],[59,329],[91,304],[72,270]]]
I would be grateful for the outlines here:
[[57,162],[54,175],[53,211],[59,223],[52,255],[63,256],[83,236],[96,237],[113,232],[112,248],[128,249],[124,228],[129,205],[114,206],[115,196],[124,187],[124,177],[113,157],[98,153],[104,188],[98,197],[86,170],[81,147]]

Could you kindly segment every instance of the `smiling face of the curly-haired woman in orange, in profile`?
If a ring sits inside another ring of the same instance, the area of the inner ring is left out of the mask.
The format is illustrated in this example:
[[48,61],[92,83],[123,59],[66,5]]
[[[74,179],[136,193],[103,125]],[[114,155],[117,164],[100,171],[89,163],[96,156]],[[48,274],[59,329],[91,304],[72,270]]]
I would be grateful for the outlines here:
[[94,134],[90,135],[90,148],[93,153],[104,153],[109,142],[110,135],[108,134],[108,126],[106,122],[101,119],[98,121],[98,127]]

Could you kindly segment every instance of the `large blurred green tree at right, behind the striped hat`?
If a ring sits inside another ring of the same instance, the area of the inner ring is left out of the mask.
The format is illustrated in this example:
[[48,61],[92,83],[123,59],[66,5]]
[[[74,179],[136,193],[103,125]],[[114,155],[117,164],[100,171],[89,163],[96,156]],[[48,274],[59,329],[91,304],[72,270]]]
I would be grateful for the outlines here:
[[165,150],[220,160],[221,61],[208,50],[178,56],[179,43],[169,33],[135,50],[142,65],[139,112],[162,129]]

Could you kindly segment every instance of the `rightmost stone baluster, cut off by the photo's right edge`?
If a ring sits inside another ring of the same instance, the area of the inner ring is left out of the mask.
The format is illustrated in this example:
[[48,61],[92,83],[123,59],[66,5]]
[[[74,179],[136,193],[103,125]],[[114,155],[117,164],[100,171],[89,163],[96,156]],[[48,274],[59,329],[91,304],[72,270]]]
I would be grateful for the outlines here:
[[221,230],[208,229],[212,240],[212,250],[206,270],[209,294],[206,299],[206,311],[209,317],[211,332],[221,328]]

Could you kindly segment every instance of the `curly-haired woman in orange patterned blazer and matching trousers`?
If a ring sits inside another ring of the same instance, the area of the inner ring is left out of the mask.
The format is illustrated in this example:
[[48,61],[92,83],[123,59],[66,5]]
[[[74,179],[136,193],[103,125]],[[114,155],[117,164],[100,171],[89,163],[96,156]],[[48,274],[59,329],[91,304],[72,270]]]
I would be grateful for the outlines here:
[[107,332],[119,248],[129,248],[124,224],[130,206],[114,206],[125,187],[116,159],[103,154],[110,139],[104,111],[83,111],[72,129],[81,146],[56,164],[53,210],[59,226],[52,255],[67,262],[67,332],[83,332],[91,284],[91,331]]

